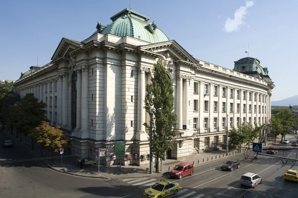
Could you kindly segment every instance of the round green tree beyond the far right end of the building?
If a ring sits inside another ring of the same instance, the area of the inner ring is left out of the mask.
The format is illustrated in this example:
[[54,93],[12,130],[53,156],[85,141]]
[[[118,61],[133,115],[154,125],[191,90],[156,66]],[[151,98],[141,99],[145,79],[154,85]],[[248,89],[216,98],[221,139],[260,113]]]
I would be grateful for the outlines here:
[[274,117],[277,118],[282,125],[280,134],[282,135],[283,141],[283,138],[290,131],[291,127],[297,125],[297,116],[293,115],[292,110],[289,108],[279,108],[277,113],[274,114]]

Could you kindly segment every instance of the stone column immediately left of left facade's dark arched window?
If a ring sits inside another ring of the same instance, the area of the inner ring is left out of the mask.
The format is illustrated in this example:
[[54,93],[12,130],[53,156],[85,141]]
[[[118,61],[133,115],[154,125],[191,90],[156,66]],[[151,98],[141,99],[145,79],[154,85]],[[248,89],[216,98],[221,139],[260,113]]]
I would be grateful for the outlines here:
[[68,72],[63,71],[63,91],[62,91],[62,127],[68,127]]

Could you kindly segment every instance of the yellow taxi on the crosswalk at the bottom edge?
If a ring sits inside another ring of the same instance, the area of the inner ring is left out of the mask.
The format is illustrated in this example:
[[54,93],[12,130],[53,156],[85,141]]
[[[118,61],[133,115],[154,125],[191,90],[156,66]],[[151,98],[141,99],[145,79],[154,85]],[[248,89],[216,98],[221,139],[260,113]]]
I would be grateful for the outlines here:
[[165,198],[170,195],[177,195],[180,185],[175,182],[160,180],[143,193],[146,198]]

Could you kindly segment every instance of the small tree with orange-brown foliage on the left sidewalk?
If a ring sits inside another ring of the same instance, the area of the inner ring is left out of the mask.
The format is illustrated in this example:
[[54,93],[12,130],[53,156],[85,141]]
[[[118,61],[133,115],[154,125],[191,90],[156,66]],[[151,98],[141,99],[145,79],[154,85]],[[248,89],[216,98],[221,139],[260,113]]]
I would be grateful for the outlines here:
[[68,144],[67,136],[61,131],[60,127],[52,127],[46,121],[42,121],[38,127],[31,131],[29,136],[51,152],[52,165],[55,164],[54,152],[58,152],[59,148]]

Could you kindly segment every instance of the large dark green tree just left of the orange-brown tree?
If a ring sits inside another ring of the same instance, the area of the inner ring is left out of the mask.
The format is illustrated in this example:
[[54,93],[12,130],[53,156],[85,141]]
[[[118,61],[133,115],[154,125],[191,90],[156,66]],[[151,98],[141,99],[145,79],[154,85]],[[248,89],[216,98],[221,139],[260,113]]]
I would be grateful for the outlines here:
[[[9,123],[11,123],[18,132],[23,133],[27,137],[30,132],[46,120],[44,109],[46,104],[43,101],[38,101],[34,94],[26,94],[20,99],[18,106],[13,106]],[[26,138],[27,141],[27,138]],[[31,139],[31,146],[34,149],[33,139]]]

